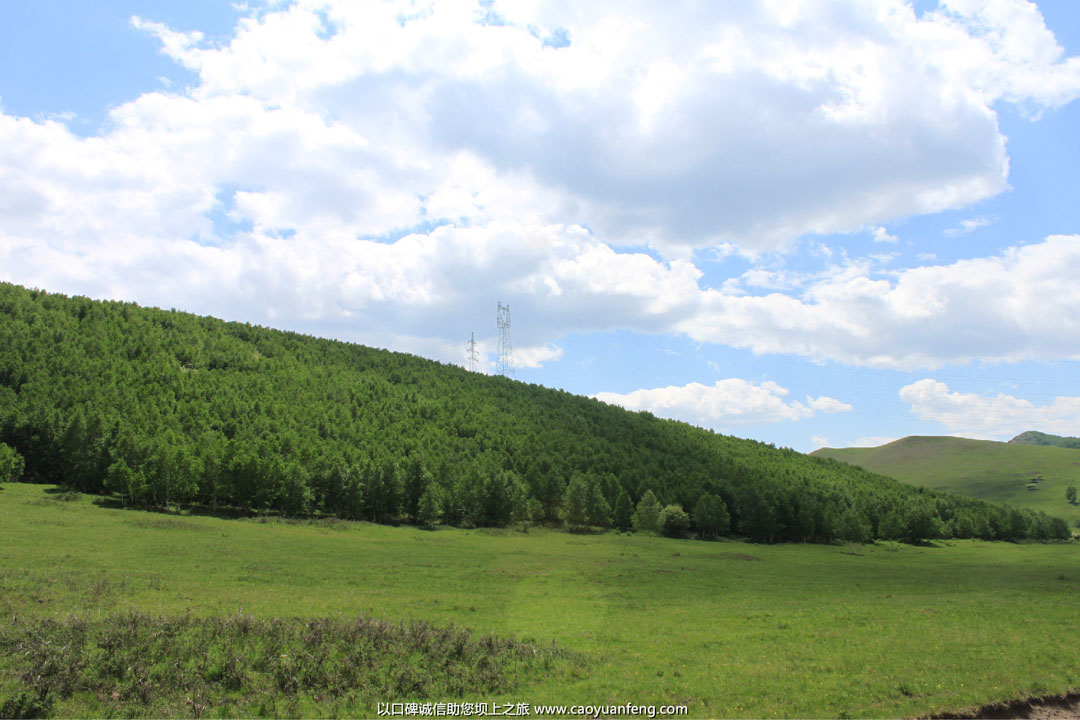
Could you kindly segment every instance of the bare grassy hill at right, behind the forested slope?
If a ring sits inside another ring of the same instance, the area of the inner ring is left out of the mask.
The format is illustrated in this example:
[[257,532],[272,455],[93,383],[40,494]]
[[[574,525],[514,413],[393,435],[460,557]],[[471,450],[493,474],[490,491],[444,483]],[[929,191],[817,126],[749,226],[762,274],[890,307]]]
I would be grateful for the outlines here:
[[[904,483],[921,485],[1017,507],[1044,511],[1070,525],[1080,506],[1065,500],[1065,489],[1080,486],[1080,451],[962,437],[905,437],[877,448],[822,448],[811,454],[865,467]],[[1028,490],[1028,480],[1043,480]]]

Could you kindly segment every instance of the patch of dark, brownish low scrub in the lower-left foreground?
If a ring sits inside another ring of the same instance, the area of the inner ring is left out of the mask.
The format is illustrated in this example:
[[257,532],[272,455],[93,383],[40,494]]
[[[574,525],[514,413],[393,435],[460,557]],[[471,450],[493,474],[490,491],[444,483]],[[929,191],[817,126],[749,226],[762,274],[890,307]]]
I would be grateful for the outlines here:
[[374,716],[376,701],[496,694],[581,665],[550,644],[420,622],[12,619],[0,626],[0,717]]

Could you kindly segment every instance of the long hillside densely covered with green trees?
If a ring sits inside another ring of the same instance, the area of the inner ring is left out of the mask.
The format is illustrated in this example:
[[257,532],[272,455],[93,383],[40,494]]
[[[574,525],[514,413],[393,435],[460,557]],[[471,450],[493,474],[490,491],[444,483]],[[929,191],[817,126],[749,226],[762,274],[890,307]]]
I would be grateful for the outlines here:
[[538,385],[11,284],[4,444],[25,479],[159,506],[625,527],[651,491],[699,530],[767,542],[1068,535],[1042,514]]

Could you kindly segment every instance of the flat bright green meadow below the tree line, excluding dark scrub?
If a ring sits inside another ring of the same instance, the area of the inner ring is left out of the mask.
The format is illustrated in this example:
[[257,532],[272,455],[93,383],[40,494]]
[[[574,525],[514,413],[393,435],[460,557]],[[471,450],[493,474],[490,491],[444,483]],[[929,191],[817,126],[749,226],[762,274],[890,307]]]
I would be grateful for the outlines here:
[[[1080,688],[1075,544],[851,554],[225,520],[62,498],[0,492],[4,622],[138,610],[454,624],[583,657],[485,699],[687,704],[692,717],[918,717]],[[93,708],[75,698],[55,712]]]

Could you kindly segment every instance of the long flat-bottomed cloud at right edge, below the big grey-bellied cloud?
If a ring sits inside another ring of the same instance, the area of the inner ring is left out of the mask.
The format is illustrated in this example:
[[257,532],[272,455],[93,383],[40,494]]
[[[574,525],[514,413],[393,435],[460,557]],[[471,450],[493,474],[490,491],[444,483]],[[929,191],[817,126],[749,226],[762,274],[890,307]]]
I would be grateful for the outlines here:
[[1080,357],[1080,236],[889,273],[849,263],[798,296],[702,291],[679,328],[757,353],[901,369]]

